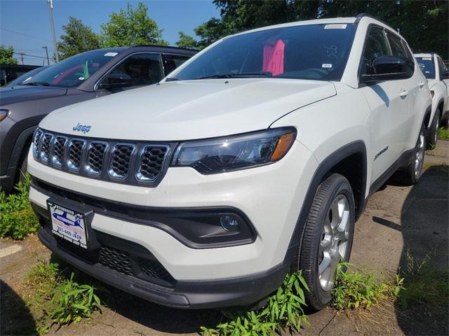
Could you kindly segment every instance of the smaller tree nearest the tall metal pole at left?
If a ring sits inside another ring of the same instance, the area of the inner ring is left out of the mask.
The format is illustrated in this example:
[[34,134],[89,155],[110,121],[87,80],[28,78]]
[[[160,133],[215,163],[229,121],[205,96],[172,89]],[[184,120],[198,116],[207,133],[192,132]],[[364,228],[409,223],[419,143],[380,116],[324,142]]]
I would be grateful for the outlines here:
[[76,55],[79,52],[100,48],[100,36],[77,18],[70,16],[69,23],[62,26],[62,30],[65,34],[61,35],[62,41],[58,42],[60,59]]

